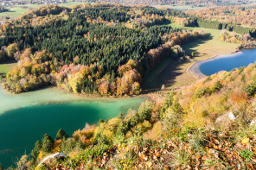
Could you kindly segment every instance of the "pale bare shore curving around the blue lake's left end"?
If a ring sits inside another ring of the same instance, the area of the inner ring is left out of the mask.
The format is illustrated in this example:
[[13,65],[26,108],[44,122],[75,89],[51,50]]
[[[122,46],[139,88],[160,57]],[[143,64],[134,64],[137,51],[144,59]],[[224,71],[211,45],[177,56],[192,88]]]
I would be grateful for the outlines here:
[[208,57],[207,59],[203,59],[203,60],[198,60],[195,61],[191,64],[191,66],[189,66],[189,68],[187,69],[186,72],[188,72],[191,76],[193,76],[195,79],[203,79],[206,78],[207,76],[204,75],[202,72],[200,72],[199,67],[205,63],[208,62],[209,60],[216,60],[216,59],[220,59],[223,58],[223,55],[227,55],[227,54],[236,54],[236,53],[240,53],[242,52],[242,50],[245,49],[253,49],[253,48],[239,48],[239,49],[235,49],[233,52],[231,53],[225,53],[225,54],[216,54],[214,56]]

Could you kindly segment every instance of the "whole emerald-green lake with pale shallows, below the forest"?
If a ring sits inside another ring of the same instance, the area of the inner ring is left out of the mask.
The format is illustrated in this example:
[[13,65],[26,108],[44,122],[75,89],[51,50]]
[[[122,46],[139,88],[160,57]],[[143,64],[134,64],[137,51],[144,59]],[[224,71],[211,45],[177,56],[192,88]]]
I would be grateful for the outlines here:
[[45,133],[54,138],[64,129],[72,135],[86,123],[136,110],[144,99],[83,98],[56,88],[9,95],[0,88],[0,162],[14,165]]

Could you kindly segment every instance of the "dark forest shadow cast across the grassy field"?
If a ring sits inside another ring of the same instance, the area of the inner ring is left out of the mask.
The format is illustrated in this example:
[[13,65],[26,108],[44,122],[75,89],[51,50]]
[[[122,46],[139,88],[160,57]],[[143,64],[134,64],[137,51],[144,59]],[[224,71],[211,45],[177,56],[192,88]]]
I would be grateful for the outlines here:
[[[186,55],[191,56],[194,54],[194,58],[200,54],[196,52],[193,48],[198,47],[206,41],[212,40],[213,36],[208,34],[206,39],[199,39],[196,41],[189,42],[182,45],[183,50]],[[175,60],[175,59],[165,59],[158,66],[152,69],[147,75],[144,76],[144,84],[142,85],[144,93],[160,91],[162,86],[168,88],[175,84],[176,77],[180,76],[183,72],[181,69],[182,65],[188,64],[189,60]]]

